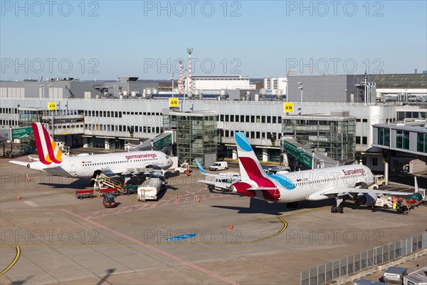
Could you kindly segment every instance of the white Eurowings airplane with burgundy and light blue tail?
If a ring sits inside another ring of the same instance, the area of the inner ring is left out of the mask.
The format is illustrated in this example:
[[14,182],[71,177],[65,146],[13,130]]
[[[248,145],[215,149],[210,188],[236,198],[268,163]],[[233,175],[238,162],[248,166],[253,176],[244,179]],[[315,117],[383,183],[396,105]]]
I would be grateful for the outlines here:
[[235,133],[235,137],[242,180],[233,183],[231,191],[241,195],[258,197],[270,202],[286,202],[290,207],[297,207],[297,202],[302,200],[335,198],[337,204],[332,206],[331,212],[342,213],[344,211],[341,203],[346,195],[349,195],[356,204],[370,207],[375,204],[377,194],[413,194],[361,189],[374,183],[374,175],[369,167],[364,165],[344,165],[267,175],[245,133]]

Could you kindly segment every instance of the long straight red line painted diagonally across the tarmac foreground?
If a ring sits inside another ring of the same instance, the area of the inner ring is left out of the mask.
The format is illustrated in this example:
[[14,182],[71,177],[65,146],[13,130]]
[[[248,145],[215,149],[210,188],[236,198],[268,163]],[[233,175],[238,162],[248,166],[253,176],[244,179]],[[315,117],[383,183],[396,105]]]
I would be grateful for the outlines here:
[[194,268],[194,269],[197,269],[197,270],[202,271],[202,272],[204,272],[204,273],[206,273],[206,274],[209,274],[209,275],[211,275],[211,276],[214,276],[214,277],[216,277],[216,278],[218,278],[218,279],[221,279],[222,281],[226,281],[226,282],[227,282],[227,283],[229,283],[229,284],[235,284],[235,285],[238,285],[238,283],[236,283],[236,282],[234,282],[234,281],[231,281],[231,280],[229,280],[229,279],[226,279],[225,277],[220,276],[220,275],[218,275],[218,274],[215,274],[214,272],[211,272],[211,271],[209,271],[209,270],[207,270],[207,269],[201,268],[200,266],[197,266],[197,265],[195,265],[195,264],[192,264],[192,263],[190,263],[189,261],[185,261],[184,259],[180,259],[179,257],[175,257],[175,256],[174,256],[174,255],[172,255],[172,254],[168,254],[167,252],[164,252],[164,251],[162,251],[162,250],[160,250],[160,249],[157,249],[157,248],[155,248],[155,247],[152,247],[152,246],[150,246],[150,245],[148,245],[148,244],[144,244],[144,242],[139,242],[139,240],[137,240],[137,239],[132,239],[132,237],[128,237],[126,234],[122,234],[121,232],[117,232],[117,231],[115,231],[114,229],[110,229],[109,227],[105,227],[105,226],[104,226],[104,225],[102,225],[102,224],[98,224],[97,222],[93,222],[93,221],[91,221],[90,219],[87,219],[87,218],[85,218],[85,217],[81,217],[81,216],[79,216],[78,214],[74,214],[73,212],[70,212],[70,211],[68,211],[68,210],[66,210],[66,209],[62,209],[62,211],[63,211],[63,212],[65,212],[65,213],[67,213],[67,214],[72,215],[73,217],[77,217],[77,218],[79,218],[79,219],[83,219],[85,222],[88,222],[88,223],[93,224],[93,225],[95,225],[95,226],[97,226],[97,227],[100,227],[101,229],[105,229],[105,230],[106,230],[106,231],[108,231],[108,232],[111,232],[111,233],[113,233],[113,234],[117,234],[118,236],[123,237],[123,238],[125,238],[125,239],[127,239],[127,240],[129,240],[129,241],[131,241],[131,242],[135,242],[136,244],[140,244],[140,245],[142,245],[143,247],[146,247],[147,249],[152,249],[154,252],[157,252],[157,253],[159,253],[159,254],[163,254],[163,255],[164,255],[164,256],[166,256],[166,257],[169,257],[169,258],[174,259],[174,260],[176,260],[176,261],[180,261],[181,263],[186,264],[186,265],[188,265],[188,266],[191,266],[191,267],[192,267],[192,268]]

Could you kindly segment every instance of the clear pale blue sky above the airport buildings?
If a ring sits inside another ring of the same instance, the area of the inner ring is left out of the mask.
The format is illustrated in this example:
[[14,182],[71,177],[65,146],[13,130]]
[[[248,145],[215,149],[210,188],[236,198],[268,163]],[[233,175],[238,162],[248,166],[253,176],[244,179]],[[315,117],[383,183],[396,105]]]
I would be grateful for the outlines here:
[[427,1],[1,1],[1,80],[427,70]]

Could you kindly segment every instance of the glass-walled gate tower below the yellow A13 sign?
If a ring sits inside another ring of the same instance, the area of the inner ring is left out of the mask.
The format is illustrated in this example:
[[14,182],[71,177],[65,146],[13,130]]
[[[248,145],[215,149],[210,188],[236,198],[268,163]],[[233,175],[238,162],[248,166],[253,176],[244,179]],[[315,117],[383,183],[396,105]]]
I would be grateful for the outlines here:
[[219,135],[216,128],[218,115],[182,115],[164,116],[165,130],[176,130],[176,156],[179,163],[186,160],[196,165],[194,159],[204,164],[205,155],[216,155]]

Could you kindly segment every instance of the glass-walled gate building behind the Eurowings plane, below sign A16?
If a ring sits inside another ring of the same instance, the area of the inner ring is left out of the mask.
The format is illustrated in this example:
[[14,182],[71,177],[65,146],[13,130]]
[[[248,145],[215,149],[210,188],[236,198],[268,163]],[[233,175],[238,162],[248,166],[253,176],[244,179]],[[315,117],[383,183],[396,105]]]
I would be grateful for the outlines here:
[[297,142],[326,152],[333,160],[354,159],[356,118],[288,116],[283,120],[283,135],[293,135]]

